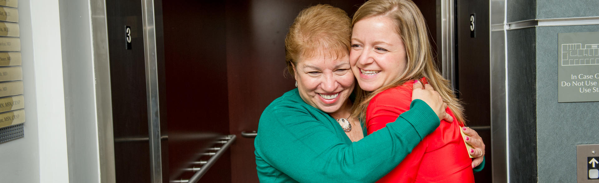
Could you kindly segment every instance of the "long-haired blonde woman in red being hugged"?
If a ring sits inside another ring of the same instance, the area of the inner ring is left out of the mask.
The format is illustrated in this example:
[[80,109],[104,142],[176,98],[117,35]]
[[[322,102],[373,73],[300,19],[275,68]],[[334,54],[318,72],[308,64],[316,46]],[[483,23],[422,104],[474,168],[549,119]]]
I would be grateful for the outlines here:
[[418,7],[410,0],[371,0],[356,11],[352,26],[350,64],[360,86],[352,116],[364,121],[367,134],[381,133],[410,109],[412,87],[418,80],[437,89],[455,119],[453,123],[442,120],[379,182],[474,182],[471,157],[482,162],[484,145],[476,150],[465,145],[465,140],[474,139],[462,137],[461,131],[469,130],[464,127],[463,108],[435,69]]

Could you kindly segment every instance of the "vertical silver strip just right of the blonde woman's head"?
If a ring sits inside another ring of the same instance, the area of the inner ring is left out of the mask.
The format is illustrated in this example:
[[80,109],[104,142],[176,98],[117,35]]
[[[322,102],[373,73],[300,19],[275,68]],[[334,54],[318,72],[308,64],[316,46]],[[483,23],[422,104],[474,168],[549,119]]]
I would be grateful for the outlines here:
[[455,22],[454,22],[454,7],[453,0],[438,0],[437,4],[440,4],[440,15],[437,15],[438,19],[441,21],[440,26],[440,52],[441,56],[441,71],[443,77],[445,79],[450,80],[452,89],[455,89],[455,73],[453,70],[455,69],[455,47],[454,42],[454,30],[455,30]]

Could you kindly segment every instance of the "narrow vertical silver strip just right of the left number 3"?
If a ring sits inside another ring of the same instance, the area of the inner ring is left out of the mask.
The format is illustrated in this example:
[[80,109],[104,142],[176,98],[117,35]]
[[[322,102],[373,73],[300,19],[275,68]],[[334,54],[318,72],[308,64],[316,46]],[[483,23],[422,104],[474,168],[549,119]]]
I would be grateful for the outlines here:
[[148,105],[148,136],[150,137],[150,180],[162,182],[162,148],[160,134],[160,104],[158,96],[158,58],[156,57],[156,28],[154,1],[141,1],[146,58],[146,91]]

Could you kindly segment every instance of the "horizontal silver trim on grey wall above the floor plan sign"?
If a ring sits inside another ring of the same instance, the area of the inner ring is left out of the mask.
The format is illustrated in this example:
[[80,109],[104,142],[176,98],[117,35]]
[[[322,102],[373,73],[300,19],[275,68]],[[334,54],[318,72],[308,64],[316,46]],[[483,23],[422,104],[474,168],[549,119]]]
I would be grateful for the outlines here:
[[508,23],[507,30],[526,29],[530,27],[580,26],[593,24],[599,24],[599,17],[541,18]]

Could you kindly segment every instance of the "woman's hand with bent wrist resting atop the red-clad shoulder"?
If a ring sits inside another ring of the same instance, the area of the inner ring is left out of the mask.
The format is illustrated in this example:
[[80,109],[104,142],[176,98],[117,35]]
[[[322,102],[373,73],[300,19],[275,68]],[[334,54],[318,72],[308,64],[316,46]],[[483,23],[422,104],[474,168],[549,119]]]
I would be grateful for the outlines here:
[[416,99],[424,101],[435,111],[439,120],[444,119],[447,122],[453,122],[453,117],[445,111],[447,104],[443,102],[441,95],[431,85],[427,83],[424,85],[424,89],[422,89],[422,83],[416,80],[412,89],[412,101]]

